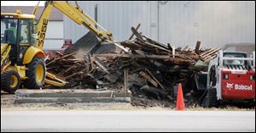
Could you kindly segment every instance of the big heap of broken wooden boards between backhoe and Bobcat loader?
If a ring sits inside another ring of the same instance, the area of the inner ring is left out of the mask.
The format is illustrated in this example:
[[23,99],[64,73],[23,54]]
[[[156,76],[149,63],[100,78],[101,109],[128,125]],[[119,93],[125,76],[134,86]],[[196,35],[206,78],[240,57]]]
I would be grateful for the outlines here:
[[207,69],[207,65],[198,67],[197,63],[207,62],[219,50],[201,49],[201,42],[196,42],[194,50],[175,48],[143,36],[138,27],[131,28],[133,34],[128,40],[114,43],[120,48],[115,53],[90,52],[84,58],[60,53],[49,60],[47,68],[67,80],[68,88],[130,90],[135,97],[172,100],[178,83],[183,84],[183,91],[191,91],[195,73]]

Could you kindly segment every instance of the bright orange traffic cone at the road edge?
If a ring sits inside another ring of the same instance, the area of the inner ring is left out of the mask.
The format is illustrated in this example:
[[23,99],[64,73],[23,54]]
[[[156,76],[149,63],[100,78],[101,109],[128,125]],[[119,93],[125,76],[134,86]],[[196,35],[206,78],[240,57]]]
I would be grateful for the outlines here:
[[177,86],[177,102],[176,102],[176,109],[177,110],[184,110],[185,109],[185,103],[183,99],[183,88],[181,83]]

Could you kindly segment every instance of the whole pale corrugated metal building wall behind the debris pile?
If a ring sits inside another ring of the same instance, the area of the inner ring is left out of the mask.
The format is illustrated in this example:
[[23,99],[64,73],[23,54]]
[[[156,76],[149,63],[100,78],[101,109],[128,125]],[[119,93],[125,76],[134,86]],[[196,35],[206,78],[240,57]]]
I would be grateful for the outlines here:
[[[204,47],[255,43],[255,2],[79,2],[92,18],[96,4],[98,23],[111,31],[116,41],[127,39],[131,26],[141,23],[140,31],[144,35],[177,47],[194,47],[196,41],[201,41]],[[66,39],[75,42],[87,31],[84,26],[64,18]]]

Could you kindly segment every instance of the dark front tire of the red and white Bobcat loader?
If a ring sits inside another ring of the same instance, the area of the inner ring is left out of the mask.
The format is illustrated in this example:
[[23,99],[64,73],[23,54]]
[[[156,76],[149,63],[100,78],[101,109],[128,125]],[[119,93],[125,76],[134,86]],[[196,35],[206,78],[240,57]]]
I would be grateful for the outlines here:
[[209,88],[207,95],[203,99],[201,106],[204,108],[218,107],[217,91],[216,88]]

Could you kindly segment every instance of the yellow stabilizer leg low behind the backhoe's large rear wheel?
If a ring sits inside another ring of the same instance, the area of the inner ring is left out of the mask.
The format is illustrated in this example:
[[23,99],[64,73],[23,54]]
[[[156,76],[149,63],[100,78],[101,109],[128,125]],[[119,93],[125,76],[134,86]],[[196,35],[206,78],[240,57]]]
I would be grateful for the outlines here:
[[66,86],[68,84],[67,81],[61,80],[49,72],[46,72],[45,83],[52,85],[52,86]]

